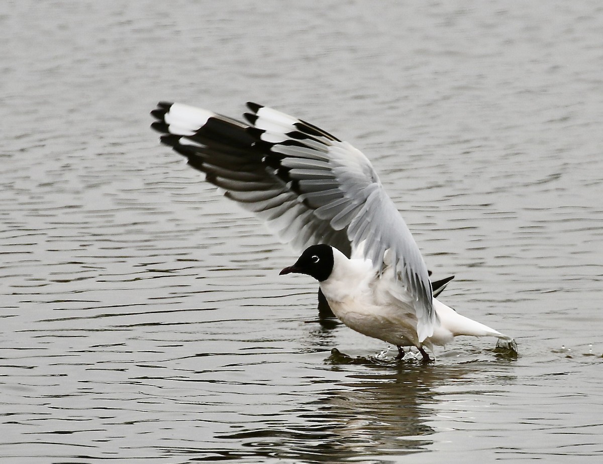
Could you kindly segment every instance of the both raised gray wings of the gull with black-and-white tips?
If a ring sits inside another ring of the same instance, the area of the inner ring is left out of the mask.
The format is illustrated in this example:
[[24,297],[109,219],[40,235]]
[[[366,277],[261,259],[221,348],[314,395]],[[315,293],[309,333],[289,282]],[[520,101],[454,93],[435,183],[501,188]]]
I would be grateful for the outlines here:
[[152,127],[283,242],[327,243],[370,259],[379,272],[393,266],[396,291],[415,301],[419,340],[431,336],[437,318],[425,262],[368,158],[308,122],[247,105],[244,124],[162,102]]

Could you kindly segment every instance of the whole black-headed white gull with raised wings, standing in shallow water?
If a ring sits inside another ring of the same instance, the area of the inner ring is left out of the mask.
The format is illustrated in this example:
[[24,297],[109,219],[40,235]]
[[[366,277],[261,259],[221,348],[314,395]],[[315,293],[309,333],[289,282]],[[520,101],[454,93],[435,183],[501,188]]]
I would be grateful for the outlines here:
[[425,348],[456,336],[497,337],[516,350],[511,337],[434,298],[417,243],[361,151],[273,108],[247,107],[242,122],[159,102],[151,127],[281,242],[305,250],[280,274],[314,277],[341,322],[397,346],[399,357],[415,346],[431,362]]

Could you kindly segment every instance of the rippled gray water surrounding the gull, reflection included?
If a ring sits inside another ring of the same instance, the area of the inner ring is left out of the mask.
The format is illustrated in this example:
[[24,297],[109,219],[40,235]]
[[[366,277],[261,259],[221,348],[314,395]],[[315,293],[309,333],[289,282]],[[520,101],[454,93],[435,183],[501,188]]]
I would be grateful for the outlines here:
[[[0,461],[600,462],[602,69],[598,0],[2,2]],[[160,99],[352,142],[519,356],[320,318]]]

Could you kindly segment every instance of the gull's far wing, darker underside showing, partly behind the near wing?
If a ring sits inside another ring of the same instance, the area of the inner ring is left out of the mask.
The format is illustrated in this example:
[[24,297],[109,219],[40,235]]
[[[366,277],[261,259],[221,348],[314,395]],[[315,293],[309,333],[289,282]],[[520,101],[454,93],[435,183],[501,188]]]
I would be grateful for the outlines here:
[[259,140],[251,125],[179,103],[160,102],[151,114],[157,119],[151,127],[165,134],[162,143],[185,155],[227,198],[265,221],[283,243],[299,251],[329,243],[350,256],[346,231],[333,229],[300,201],[287,185],[285,169],[279,168],[280,156]]

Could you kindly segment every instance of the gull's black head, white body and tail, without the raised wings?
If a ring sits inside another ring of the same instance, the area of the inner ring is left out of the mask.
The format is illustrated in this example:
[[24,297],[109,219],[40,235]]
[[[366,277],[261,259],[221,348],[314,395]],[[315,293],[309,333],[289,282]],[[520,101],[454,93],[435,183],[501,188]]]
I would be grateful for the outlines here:
[[[432,298],[435,321],[430,334],[421,339],[417,316],[417,301],[412,298],[410,285],[400,284],[396,266],[384,255],[384,267],[379,270],[371,260],[363,257],[349,259],[330,245],[312,245],[306,248],[294,265],[280,275],[307,274],[320,283],[320,290],[337,318],[359,333],[396,345],[399,356],[404,346],[416,346],[425,362],[431,358],[424,346],[445,346],[458,335],[497,337],[499,346],[513,345],[514,341],[487,325],[460,315],[455,310]],[[506,342],[506,343],[505,343]]]

